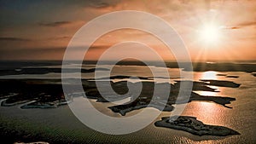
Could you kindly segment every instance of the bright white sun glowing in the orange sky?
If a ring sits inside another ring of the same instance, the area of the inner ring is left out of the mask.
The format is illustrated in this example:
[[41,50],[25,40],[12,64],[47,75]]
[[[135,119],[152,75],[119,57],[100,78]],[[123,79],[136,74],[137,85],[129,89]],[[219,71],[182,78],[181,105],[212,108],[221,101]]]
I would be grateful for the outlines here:
[[216,44],[220,41],[220,26],[206,25],[199,30],[199,37],[202,43]]

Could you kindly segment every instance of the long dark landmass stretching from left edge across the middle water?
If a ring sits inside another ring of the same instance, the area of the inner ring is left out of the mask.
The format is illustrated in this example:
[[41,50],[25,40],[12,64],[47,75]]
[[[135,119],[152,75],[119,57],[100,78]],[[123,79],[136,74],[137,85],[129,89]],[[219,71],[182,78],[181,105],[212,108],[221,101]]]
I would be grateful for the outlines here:
[[[74,79],[70,79],[73,81]],[[67,80],[68,81],[68,80]],[[206,80],[207,82],[209,80]],[[131,112],[144,107],[154,107],[159,109],[163,107],[165,100],[162,100],[161,94],[157,95],[157,99],[153,100],[153,104],[149,105],[149,102],[152,100],[154,94],[154,86],[157,86],[154,82],[142,82],[143,89],[138,97],[133,97],[134,91],[129,91],[127,85],[131,85],[134,89],[138,88],[140,83],[131,83],[127,81],[120,81],[118,83],[113,83],[109,81],[99,81],[100,84],[106,85],[111,84],[113,91],[111,92],[108,88],[102,87],[102,92],[104,97],[100,94],[96,88],[95,81],[82,80],[84,91],[79,91],[75,84],[67,84],[67,92],[70,97],[68,100],[65,99],[63,95],[62,85],[58,79],[6,79],[0,80],[1,95],[0,99],[6,98],[5,101],[2,101],[1,106],[15,106],[17,104],[28,103],[21,108],[54,108],[61,105],[65,105],[68,102],[72,102],[73,97],[84,96],[89,99],[95,99],[98,102],[109,102],[109,101],[119,101],[127,97],[131,97],[131,101],[119,106],[108,107],[113,112],[119,112],[122,115],[125,115],[126,112]],[[212,91],[218,92],[216,89],[207,87],[209,83],[207,82],[193,82],[193,81],[176,81],[175,84],[162,84],[162,86],[171,87],[169,98],[166,102],[166,107],[164,111],[172,111],[173,104],[181,104],[190,101],[210,101],[222,105],[224,107],[227,104],[230,104],[230,101],[235,101],[235,98],[222,97],[222,96],[207,96],[207,95],[198,95],[195,92],[192,92],[189,100],[179,100],[177,101],[177,95],[179,94],[180,84],[193,84],[192,90],[202,90],[202,91]],[[225,82],[226,84],[227,82]],[[213,83],[214,84],[214,83]],[[230,87],[230,83],[228,83]],[[231,83],[232,84],[232,83]],[[210,83],[211,85],[211,83]],[[216,85],[216,84],[215,84]],[[218,84],[224,86],[224,84]],[[101,87],[101,86],[100,86]],[[183,88],[182,90],[188,90]],[[116,95],[115,93],[119,94]],[[85,95],[84,95],[85,94]],[[134,100],[134,101],[133,101]],[[229,107],[230,108],[230,107]]]

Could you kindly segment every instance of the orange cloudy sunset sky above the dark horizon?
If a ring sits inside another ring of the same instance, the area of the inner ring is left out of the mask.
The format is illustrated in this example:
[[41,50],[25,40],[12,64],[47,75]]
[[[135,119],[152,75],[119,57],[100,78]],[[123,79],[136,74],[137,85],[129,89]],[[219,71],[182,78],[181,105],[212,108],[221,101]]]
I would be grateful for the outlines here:
[[[254,0],[0,1],[0,60],[61,60],[81,26],[119,10],[166,20],[183,37],[192,60],[256,60]],[[127,29],[100,37],[85,59],[96,60],[111,45],[130,40],[147,43],[165,60],[174,59],[153,35]]]

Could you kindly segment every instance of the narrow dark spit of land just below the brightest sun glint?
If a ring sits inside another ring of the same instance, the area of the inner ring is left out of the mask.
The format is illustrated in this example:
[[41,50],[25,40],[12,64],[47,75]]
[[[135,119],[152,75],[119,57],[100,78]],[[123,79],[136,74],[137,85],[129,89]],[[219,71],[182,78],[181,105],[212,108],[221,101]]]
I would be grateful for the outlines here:
[[214,85],[219,87],[238,88],[241,85],[226,80],[201,79],[201,81],[209,83],[208,85]]

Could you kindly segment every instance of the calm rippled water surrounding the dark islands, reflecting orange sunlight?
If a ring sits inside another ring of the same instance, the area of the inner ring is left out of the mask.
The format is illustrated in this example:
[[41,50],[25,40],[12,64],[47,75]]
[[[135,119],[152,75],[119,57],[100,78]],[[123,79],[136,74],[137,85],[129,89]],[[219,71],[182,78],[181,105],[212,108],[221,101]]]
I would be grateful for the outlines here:
[[[58,67],[58,66],[55,66]],[[93,66],[84,66],[90,68]],[[151,68],[161,72],[160,67]],[[180,69],[169,69],[171,82],[180,80]],[[236,75],[239,78],[225,78],[217,76],[218,73],[228,75]],[[115,66],[112,75],[130,75],[151,77],[152,73],[146,66]],[[70,74],[70,78],[73,78]],[[83,78],[93,78],[93,73],[82,75]],[[102,77],[106,77],[102,74]],[[61,74],[49,73],[44,75],[18,75],[18,76],[2,76],[0,78],[61,78]],[[139,130],[129,135],[105,135],[94,130],[90,130],[79,120],[73,117],[67,106],[55,109],[20,109],[15,107],[0,107],[1,120],[6,125],[15,129],[31,131],[33,133],[44,133],[45,136],[55,139],[68,139],[77,141],[108,141],[108,142],[131,142],[131,143],[255,143],[256,142],[256,77],[246,72],[194,72],[194,80],[199,79],[222,79],[234,81],[241,84],[240,88],[218,88],[220,92],[196,91],[201,95],[218,95],[236,98],[229,105],[232,109],[222,107],[211,102],[193,101],[185,108],[183,115],[193,116],[201,120],[205,124],[216,124],[229,127],[241,133],[241,135],[232,135],[226,137],[219,136],[197,136],[191,135],[181,130],[170,130],[166,128],[156,128],[154,124],[148,125],[143,130]],[[119,81],[119,79],[115,79]],[[157,78],[157,82],[165,82],[166,78]],[[78,98],[83,99],[83,98]],[[76,100],[79,101],[79,100]],[[108,103],[95,103],[97,109],[113,117],[121,117],[117,113],[113,113],[107,107]],[[153,108],[148,108],[154,110]],[[127,116],[133,115],[138,111],[130,112]],[[170,112],[162,112],[160,117],[168,116]],[[156,120],[159,120],[160,117]]]

